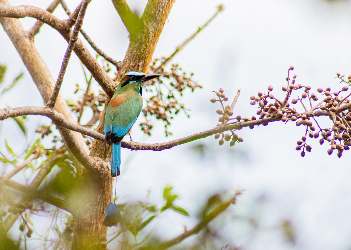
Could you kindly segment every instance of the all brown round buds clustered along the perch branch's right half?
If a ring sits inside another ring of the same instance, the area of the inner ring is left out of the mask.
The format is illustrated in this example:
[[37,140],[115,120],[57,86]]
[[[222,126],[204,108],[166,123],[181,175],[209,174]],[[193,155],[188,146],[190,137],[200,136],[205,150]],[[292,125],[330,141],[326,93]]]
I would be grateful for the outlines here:
[[[311,93],[311,86],[303,86],[301,84],[296,85],[296,75],[294,75],[290,81],[290,71],[293,70],[294,67],[290,67],[288,70],[287,86],[283,86],[283,92],[286,92],[284,100],[279,100],[272,94],[273,87],[268,86],[267,93],[258,92],[257,96],[250,97],[251,105],[258,105],[259,108],[256,114],[259,116],[252,116],[251,118],[241,118],[241,116],[237,116],[237,122],[234,123],[242,123],[246,121],[253,121],[257,119],[264,119],[261,123],[257,125],[267,125],[270,121],[281,120],[284,123],[288,121],[296,121],[296,126],[306,126],[305,135],[302,136],[301,140],[297,141],[296,150],[302,150],[301,156],[305,156],[305,151],[310,152],[312,150],[312,146],[306,143],[307,137],[310,138],[318,138],[322,136],[319,140],[320,145],[324,143],[326,140],[330,148],[327,150],[327,153],[332,154],[333,150],[337,150],[338,157],[340,158],[343,154],[344,150],[349,150],[351,146],[351,105],[350,105],[350,96],[351,93],[349,91],[349,87],[343,86],[340,91],[331,92],[331,88],[327,87],[325,90],[323,88],[318,88],[317,92],[322,93],[324,95],[323,101],[320,101],[317,104],[313,104],[313,102],[318,101],[318,97],[316,93]],[[337,73],[337,78],[342,80],[341,82],[350,85],[351,75],[348,77],[348,81],[344,80],[345,75],[341,75]],[[304,108],[303,112],[298,112],[295,107],[290,107],[290,96],[293,91],[303,90],[301,96],[297,96],[291,100],[291,104],[300,103]],[[227,101],[228,98],[225,97],[223,93],[223,89],[220,89],[219,92],[216,93],[219,99],[211,99],[212,103],[216,101],[220,101],[223,110],[217,110],[217,113],[221,115],[219,117],[219,121],[221,124],[225,125],[228,123],[230,116],[233,115],[232,107],[226,106],[224,107],[223,101]],[[306,108],[305,103],[308,103],[309,109]],[[233,106],[233,105],[232,105]],[[332,120],[332,127],[322,129],[319,126],[315,117],[317,116],[329,116],[329,119]],[[314,125],[316,124],[316,125]],[[218,126],[219,124],[217,124]],[[256,125],[256,124],[255,124]],[[252,124],[245,125],[242,127],[249,126],[253,129]],[[317,126],[317,127],[316,127]],[[237,137],[234,136],[233,131],[232,134],[223,134],[222,139],[219,144],[223,144],[223,138],[227,141],[233,137],[233,140]],[[219,134],[215,135],[215,138],[219,138]],[[240,139],[240,138],[239,138]],[[242,140],[242,139],[241,139]],[[231,143],[231,146],[234,143]]]

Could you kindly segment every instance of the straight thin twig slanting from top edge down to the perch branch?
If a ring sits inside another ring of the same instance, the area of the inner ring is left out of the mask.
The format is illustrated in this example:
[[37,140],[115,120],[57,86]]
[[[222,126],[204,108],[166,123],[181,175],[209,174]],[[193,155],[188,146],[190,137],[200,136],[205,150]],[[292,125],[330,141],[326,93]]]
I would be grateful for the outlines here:
[[56,103],[56,100],[57,100],[57,97],[59,95],[59,91],[60,91],[60,88],[62,85],[62,81],[63,81],[64,75],[66,73],[66,68],[68,65],[69,58],[71,58],[71,54],[72,54],[75,42],[77,42],[77,40],[78,40],[79,30],[83,24],[83,19],[84,19],[84,15],[85,15],[86,9],[88,7],[88,4],[89,4],[89,0],[83,1],[82,6],[81,6],[80,11],[79,11],[79,14],[78,14],[77,21],[75,22],[73,32],[71,33],[71,37],[69,37],[68,47],[67,47],[64,59],[62,61],[59,76],[57,78],[52,96],[51,96],[50,100],[48,101],[48,103],[46,104],[46,106],[49,108],[54,108],[54,106],[55,106],[55,103]]

